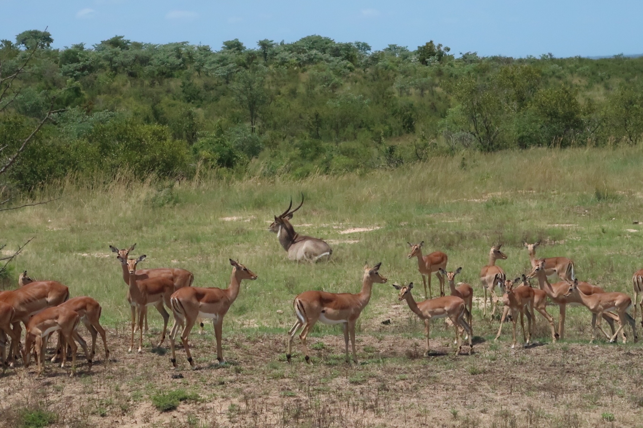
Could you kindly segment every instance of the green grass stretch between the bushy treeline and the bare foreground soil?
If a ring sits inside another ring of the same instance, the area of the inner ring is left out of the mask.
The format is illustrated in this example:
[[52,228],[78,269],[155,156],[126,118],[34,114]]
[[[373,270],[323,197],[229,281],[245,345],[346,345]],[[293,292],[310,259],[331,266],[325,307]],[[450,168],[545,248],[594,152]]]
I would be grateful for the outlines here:
[[[423,326],[405,304],[391,326],[380,323],[384,316],[390,318],[387,312],[398,303],[390,284],[413,281],[415,297],[420,300],[423,294],[417,262],[406,257],[407,241],[424,241],[425,253],[446,252],[448,270],[462,266],[458,280],[471,283],[476,296],[482,295],[478,273],[487,264],[492,244],[504,244],[509,259],[498,264],[507,277],[528,270],[523,240],[543,241],[539,257],[573,259],[576,276],[582,280],[631,293],[631,274],[641,267],[643,255],[643,227],[632,224],[643,221],[641,148],[465,155],[466,169],[460,168],[457,156],[392,171],[300,181],[275,176],[179,182],[167,204],[159,203],[163,195],[151,182],[132,184],[120,178],[107,184],[67,184],[61,200],[0,216],[5,250],[35,236],[13,262],[10,286],[22,270],[33,278],[59,280],[69,286],[72,296],[95,297],[103,306],[103,323],[127,328],[127,286],[109,244],[123,248],[137,243],[134,253],[147,254],[141,268],[185,268],[194,273],[194,286],[226,287],[232,258],[257,273],[258,279],[242,284],[224,321],[224,336],[282,334],[294,322],[292,302],[298,293],[309,289],[355,293],[363,264],[382,262],[381,273],[389,282],[374,286],[358,330],[413,334],[421,343],[419,352],[424,348]],[[294,227],[334,242],[331,262],[290,262],[276,235],[267,231],[273,216],[301,192],[305,203],[294,215]],[[232,217],[237,219],[222,220]],[[379,229],[339,233],[350,227]],[[435,276],[432,284],[435,294]],[[548,310],[557,318],[557,309]],[[479,312],[474,312],[476,336],[493,334],[496,323],[482,323]],[[149,314],[150,326],[161,327],[158,313],[150,309]],[[585,309],[568,309],[567,319],[568,338],[589,337]],[[541,317],[537,323],[545,325]],[[211,333],[212,325],[206,330]],[[451,335],[437,322],[431,331],[437,338]],[[547,338],[547,329],[540,331]],[[316,326],[311,336],[324,334],[341,336],[341,327]],[[506,326],[503,340],[509,337],[511,328]]]

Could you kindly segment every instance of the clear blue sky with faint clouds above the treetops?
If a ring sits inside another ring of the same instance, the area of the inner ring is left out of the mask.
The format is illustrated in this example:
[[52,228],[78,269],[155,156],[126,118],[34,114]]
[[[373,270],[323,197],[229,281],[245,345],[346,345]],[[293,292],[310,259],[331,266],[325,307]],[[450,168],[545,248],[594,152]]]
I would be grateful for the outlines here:
[[0,0],[0,39],[49,27],[55,47],[114,35],[141,42],[292,42],[319,34],[374,49],[428,40],[451,53],[602,56],[643,53],[643,1]]

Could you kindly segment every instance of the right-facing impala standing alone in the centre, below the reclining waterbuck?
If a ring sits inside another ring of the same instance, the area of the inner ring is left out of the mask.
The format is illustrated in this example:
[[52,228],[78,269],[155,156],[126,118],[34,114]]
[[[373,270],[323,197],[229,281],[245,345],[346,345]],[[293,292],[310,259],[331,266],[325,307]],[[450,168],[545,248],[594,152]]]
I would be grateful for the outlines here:
[[306,337],[317,321],[324,324],[341,324],[344,329],[346,362],[349,363],[349,334],[353,348],[353,361],[358,362],[355,350],[355,323],[361,311],[368,305],[373,284],[386,282],[386,278],[379,274],[380,266],[381,263],[377,263],[373,268],[369,268],[368,264],[364,266],[362,288],[356,295],[328,293],[327,291],[304,291],[294,298],[293,307],[297,321],[288,332],[288,348],[285,354],[288,363],[291,362],[294,335],[302,328],[299,338],[302,341],[304,359],[306,363],[312,364],[311,357],[308,355]]

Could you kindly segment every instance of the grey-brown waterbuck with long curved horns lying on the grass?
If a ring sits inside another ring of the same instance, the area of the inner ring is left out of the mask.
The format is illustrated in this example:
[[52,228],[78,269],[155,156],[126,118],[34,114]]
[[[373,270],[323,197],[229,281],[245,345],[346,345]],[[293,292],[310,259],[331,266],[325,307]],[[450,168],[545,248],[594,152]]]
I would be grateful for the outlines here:
[[332,248],[329,244],[321,239],[298,234],[294,231],[293,225],[290,224],[289,220],[293,218],[293,213],[300,209],[302,205],[303,194],[302,202],[291,211],[290,209],[293,207],[293,199],[291,198],[288,209],[280,216],[275,216],[275,221],[268,227],[268,230],[277,234],[277,239],[279,239],[279,243],[284,247],[284,250],[288,252],[288,259],[290,260],[316,262],[324,257],[326,260],[330,260]]

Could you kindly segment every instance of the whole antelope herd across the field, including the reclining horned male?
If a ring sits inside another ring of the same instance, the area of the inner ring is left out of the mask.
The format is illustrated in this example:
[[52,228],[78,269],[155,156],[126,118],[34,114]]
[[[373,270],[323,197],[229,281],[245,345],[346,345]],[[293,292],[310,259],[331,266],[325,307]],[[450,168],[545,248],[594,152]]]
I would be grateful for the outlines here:
[[[294,231],[290,220],[293,213],[300,209],[302,202],[291,210],[291,200],[288,209],[280,216],[275,216],[275,221],[268,230],[277,234],[279,243],[288,253],[288,258],[293,261],[327,261],[331,259],[332,248],[321,239],[300,235]],[[443,252],[432,252],[422,255],[424,242],[419,244],[408,243],[410,253],[408,258],[417,257],[418,270],[422,275],[424,284],[424,298],[416,302],[412,295],[413,282],[406,286],[392,284],[399,290],[399,300],[406,300],[409,309],[415,312],[424,321],[426,334],[426,353],[430,352],[430,321],[433,318],[448,318],[455,330],[455,354],[462,350],[462,335],[469,343],[468,354],[473,352],[473,287],[469,284],[456,283],[455,277],[462,271],[447,271],[448,257]],[[514,280],[507,280],[505,272],[496,266],[496,261],[507,259],[507,255],[500,248],[502,244],[495,245],[489,250],[489,264],[480,271],[480,283],[484,291],[482,305],[483,316],[487,314],[487,294],[491,298],[491,318],[496,312],[498,302],[504,305],[500,317],[500,328],[496,339],[500,337],[502,325],[511,312],[513,324],[513,338],[511,347],[516,346],[516,323],[520,318],[523,333],[523,343],[526,347],[531,342],[535,323],[534,315],[538,311],[547,320],[552,336],[552,342],[563,339],[565,334],[565,311],[567,305],[583,305],[592,312],[592,343],[595,339],[596,328],[604,336],[615,341],[619,335],[626,343],[624,327],[629,324],[632,329],[634,341],[637,341],[636,318],[637,301],[643,316],[643,270],[637,271],[632,278],[634,289],[634,318],[628,314],[632,300],[624,293],[606,293],[601,287],[593,286],[587,282],[577,280],[574,276],[574,262],[566,257],[552,257],[547,259],[536,258],[534,244],[524,243],[529,253],[532,266],[528,275]],[[127,284],[125,298],[131,309],[131,338],[129,352],[134,348],[134,332],[138,329],[138,352],[143,349],[143,330],[147,332],[147,308],[154,306],[163,317],[163,330],[159,338],[158,347],[163,345],[170,309],[174,315],[174,324],[170,330],[170,348],[173,368],[177,367],[176,336],[181,332],[181,346],[185,350],[188,363],[194,368],[195,363],[188,345],[188,338],[195,323],[203,329],[202,320],[212,319],[215,340],[217,345],[217,360],[224,361],[222,354],[222,325],[223,318],[239,295],[242,280],[255,280],[257,275],[237,261],[230,259],[232,272],[230,285],[226,289],[216,287],[193,287],[194,275],[189,271],[177,268],[139,269],[137,266],[144,261],[146,256],[129,258],[129,253],[136,244],[122,250],[109,246],[116,253],[116,259],[121,264],[122,275]],[[352,347],[352,360],[357,363],[355,348],[356,321],[363,309],[368,305],[373,284],[385,284],[388,280],[380,273],[381,263],[375,266],[366,264],[363,268],[361,291],[351,293],[328,293],[326,291],[305,291],[296,296],[293,309],[296,321],[287,335],[286,359],[291,363],[293,339],[300,332],[304,359],[311,363],[306,343],[309,332],[317,321],[324,324],[341,324],[343,327],[346,361],[349,363],[349,340]],[[440,283],[440,296],[433,298],[431,290],[431,275],[435,273]],[[557,276],[560,282],[551,284],[549,277]],[[532,288],[529,280],[536,278],[539,288]],[[448,282],[450,295],[445,295],[445,282]],[[496,286],[502,291],[499,298],[496,295]],[[639,297],[640,296],[640,297]],[[639,300],[640,299],[640,300]],[[547,312],[547,302],[559,306],[559,321],[556,328],[554,318]],[[28,277],[24,271],[19,276],[19,288],[0,292],[0,352],[3,367],[14,364],[22,355],[23,364],[28,367],[30,357],[35,355],[37,375],[44,368],[44,355],[46,354],[48,339],[51,334],[58,332],[58,344],[51,361],[61,359],[61,367],[66,364],[68,348],[71,349],[71,375],[75,373],[75,361],[78,342],[86,355],[88,370],[91,370],[93,357],[96,350],[96,338],[100,334],[105,347],[105,361],[109,360],[109,349],[105,330],[100,325],[101,307],[96,300],[87,296],[69,298],[68,287],[56,281],[35,281]],[[137,318],[138,316],[138,318]],[[527,330],[524,318],[527,317]],[[610,325],[611,334],[601,326],[601,320]],[[86,341],[78,334],[78,325],[84,323],[91,334],[91,352]],[[617,321],[615,326],[614,321]],[[22,327],[26,328],[24,347],[21,344]],[[643,325],[643,320],[641,321]],[[7,343],[10,346],[7,352]]]

